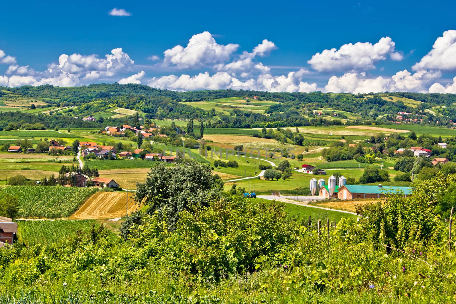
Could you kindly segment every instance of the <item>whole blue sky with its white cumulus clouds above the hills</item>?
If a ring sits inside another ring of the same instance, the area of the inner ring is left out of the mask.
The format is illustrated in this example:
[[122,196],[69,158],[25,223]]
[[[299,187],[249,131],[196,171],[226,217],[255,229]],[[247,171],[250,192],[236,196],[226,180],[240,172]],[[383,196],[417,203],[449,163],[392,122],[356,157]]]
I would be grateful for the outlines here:
[[[454,1],[8,1],[1,7],[10,12],[2,15],[0,33],[5,86],[135,82],[175,90],[456,93]],[[114,8],[118,13],[110,15]]]

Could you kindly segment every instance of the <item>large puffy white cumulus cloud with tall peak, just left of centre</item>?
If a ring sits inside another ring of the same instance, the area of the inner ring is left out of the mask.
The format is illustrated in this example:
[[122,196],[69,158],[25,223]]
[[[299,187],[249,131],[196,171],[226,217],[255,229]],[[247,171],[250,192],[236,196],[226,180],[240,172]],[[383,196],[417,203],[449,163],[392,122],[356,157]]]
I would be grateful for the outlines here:
[[228,61],[238,47],[238,44],[233,43],[218,44],[211,33],[204,31],[193,35],[186,47],[177,45],[163,52],[163,64],[179,69],[218,64]]

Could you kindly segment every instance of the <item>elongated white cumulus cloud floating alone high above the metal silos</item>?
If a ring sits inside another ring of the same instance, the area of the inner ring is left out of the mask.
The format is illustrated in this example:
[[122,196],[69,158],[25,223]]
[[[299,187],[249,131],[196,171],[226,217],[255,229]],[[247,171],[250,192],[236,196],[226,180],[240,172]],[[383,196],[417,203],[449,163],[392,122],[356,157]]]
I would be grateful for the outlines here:
[[395,43],[390,37],[383,37],[377,43],[357,42],[344,44],[340,49],[332,48],[316,53],[307,61],[319,72],[368,70],[375,68],[374,63],[385,60],[402,60],[400,52],[395,52]]

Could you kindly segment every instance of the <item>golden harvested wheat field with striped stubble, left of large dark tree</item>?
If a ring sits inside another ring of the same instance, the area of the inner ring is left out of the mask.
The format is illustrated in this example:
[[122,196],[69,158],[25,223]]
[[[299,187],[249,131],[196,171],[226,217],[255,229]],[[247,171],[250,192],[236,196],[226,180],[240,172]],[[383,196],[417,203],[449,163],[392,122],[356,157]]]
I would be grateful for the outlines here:
[[[133,193],[128,194],[128,213],[138,209],[133,202]],[[97,192],[76,211],[72,220],[97,220],[116,218],[125,215],[127,204],[126,192]]]

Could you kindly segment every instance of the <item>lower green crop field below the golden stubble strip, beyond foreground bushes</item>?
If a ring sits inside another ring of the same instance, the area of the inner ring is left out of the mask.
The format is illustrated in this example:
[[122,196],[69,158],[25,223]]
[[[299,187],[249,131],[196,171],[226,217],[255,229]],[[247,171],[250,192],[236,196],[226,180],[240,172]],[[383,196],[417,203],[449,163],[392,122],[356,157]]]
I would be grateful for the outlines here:
[[18,221],[17,234],[24,245],[46,245],[71,237],[78,230],[88,232],[95,223],[94,220]]

